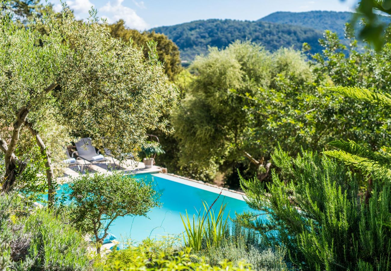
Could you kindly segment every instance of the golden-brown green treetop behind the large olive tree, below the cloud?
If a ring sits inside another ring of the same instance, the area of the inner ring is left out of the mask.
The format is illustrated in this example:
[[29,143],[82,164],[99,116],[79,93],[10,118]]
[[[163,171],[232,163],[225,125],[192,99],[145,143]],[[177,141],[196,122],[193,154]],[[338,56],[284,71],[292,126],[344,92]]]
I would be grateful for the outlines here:
[[136,45],[137,48],[143,51],[144,56],[147,59],[149,57],[148,42],[151,40],[157,42],[156,52],[159,61],[163,63],[165,74],[167,74],[171,80],[174,80],[183,69],[181,66],[181,58],[179,57],[178,46],[164,34],[158,34],[154,31],[144,31],[140,33],[136,29],[128,29],[125,27],[123,20],[108,25],[108,27],[111,36]]

